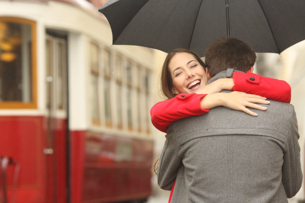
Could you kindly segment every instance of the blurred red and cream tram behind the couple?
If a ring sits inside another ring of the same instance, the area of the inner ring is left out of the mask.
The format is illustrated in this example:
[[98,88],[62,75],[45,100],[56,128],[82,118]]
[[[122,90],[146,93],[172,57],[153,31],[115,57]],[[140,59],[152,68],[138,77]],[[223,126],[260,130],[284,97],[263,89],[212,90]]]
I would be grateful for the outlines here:
[[152,194],[153,51],[111,47],[103,3],[0,0],[0,202]]

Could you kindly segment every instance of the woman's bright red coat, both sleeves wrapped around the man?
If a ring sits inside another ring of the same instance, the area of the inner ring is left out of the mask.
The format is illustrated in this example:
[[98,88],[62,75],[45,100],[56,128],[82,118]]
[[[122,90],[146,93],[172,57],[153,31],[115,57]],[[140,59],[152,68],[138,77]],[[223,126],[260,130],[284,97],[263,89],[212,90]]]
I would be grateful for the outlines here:
[[[282,80],[266,78],[254,73],[233,73],[233,91],[240,91],[254,95],[260,95],[270,100],[289,103],[291,100],[291,87]],[[165,132],[167,126],[175,120],[201,115],[209,109],[200,107],[200,101],[206,94],[184,94],[158,102],[151,108],[152,124],[158,130]]]

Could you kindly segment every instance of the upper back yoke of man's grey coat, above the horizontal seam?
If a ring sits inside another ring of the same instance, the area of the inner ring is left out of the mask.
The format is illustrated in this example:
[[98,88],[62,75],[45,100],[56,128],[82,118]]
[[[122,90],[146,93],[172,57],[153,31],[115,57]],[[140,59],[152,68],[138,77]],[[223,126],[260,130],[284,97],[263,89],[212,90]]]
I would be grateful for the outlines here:
[[167,133],[177,137],[183,137],[187,134],[188,136],[190,134],[192,136],[210,136],[244,132],[259,135],[258,129],[260,129],[264,131],[265,135],[282,134],[286,137],[289,134],[291,123],[295,120],[292,119],[295,116],[294,106],[278,101],[271,101],[270,104],[264,106],[267,107],[267,110],[250,108],[258,113],[257,116],[218,106],[203,115],[191,116],[173,122],[168,126]]

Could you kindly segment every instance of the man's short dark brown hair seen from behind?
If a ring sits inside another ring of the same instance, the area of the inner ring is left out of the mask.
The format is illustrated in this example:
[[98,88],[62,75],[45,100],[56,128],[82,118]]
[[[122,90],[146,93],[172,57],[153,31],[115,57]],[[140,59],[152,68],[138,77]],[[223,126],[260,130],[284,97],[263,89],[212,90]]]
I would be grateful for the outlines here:
[[225,37],[212,42],[205,51],[205,64],[211,77],[228,68],[247,72],[254,65],[255,60],[254,50],[234,37]]

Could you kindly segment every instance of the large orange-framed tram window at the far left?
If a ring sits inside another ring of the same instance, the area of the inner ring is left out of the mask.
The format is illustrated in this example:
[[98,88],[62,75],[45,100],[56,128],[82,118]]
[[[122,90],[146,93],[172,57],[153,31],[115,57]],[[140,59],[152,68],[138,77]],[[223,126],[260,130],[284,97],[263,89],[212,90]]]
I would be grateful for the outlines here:
[[0,17],[0,108],[36,108],[35,22]]

